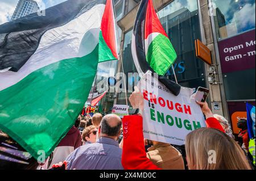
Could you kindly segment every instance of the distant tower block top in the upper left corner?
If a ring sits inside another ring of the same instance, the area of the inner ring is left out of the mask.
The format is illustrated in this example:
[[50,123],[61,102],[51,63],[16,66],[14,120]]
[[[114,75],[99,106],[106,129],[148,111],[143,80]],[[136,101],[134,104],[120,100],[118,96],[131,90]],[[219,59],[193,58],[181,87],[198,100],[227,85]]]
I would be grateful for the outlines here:
[[19,0],[11,20],[22,18],[39,10],[38,3],[32,0]]

